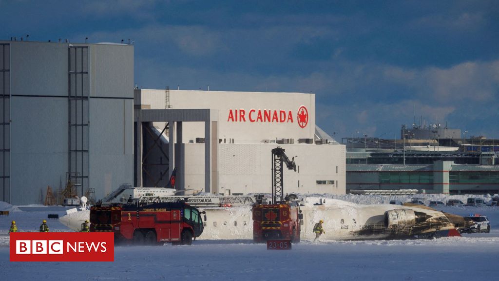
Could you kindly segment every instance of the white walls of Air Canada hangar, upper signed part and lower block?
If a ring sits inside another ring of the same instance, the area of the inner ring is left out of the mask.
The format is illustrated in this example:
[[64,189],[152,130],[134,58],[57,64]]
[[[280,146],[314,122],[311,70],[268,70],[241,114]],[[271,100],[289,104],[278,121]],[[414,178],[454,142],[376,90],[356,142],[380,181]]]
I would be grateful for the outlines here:
[[[286,193],[344,194],[346,191],[345,146],[298,143],[299,138],[315,138],[315,94],[136,89],[135,102],[137,107],[150,109],[219,110],[218,134],[222,141],[217,154],[218,185],[212,186],[212,193],[227,194],[227,189],[231,193],[270,193],[271,149],[277,146],[286,149],[288,157],[298,156],[295,162],[299,172],[284,172]],[[308,113],[303,127],[298,123],[301,106]],[[270,110],[270,121],[263,116],[261,121],[258,119],[258,111],[264,114],[265,110]],[[281,110],[285,114],[283,122],[280,119]],[[274,111],[278,121],[273,118]],[[243,120],[240,114],[244,115]],[[154,123],[160,130],[164,124]],[[203,143],[195,143],[198,137],[204,137],[204,124],[184,122],[182,142],[185,166],[181,170],[184,170],[184,187],[193,191],[205,188],[205,147]],[[282,138],[290,138],[294,143],[275,143],[276,139]]]

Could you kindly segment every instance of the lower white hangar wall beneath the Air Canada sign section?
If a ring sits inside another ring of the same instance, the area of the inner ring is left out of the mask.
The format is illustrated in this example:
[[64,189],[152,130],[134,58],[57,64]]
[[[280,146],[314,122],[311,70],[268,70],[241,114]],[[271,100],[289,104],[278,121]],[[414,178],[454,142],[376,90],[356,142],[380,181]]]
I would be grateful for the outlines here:
[[[186,143],[185,188],[204,189],[204,146]],[[212,193],[270,193],[271,150],[277,146],[294,157],[297,170],[284,165],[285,193],[345,194],[345,146],[315,144],[238,144],[219,145],[219,186]]]

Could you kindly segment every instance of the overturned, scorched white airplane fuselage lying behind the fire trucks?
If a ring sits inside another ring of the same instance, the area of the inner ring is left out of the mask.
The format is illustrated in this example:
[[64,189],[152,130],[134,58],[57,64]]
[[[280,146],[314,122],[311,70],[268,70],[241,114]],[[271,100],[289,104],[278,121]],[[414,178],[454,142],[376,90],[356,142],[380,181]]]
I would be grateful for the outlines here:
[[[356,204],[328,199],[327,204],[314,205],[315,197],[306,198],[300,207],[303,212],[301,239],[312,240],[312,229],[320,219],[326,231],[323,240],[405,239],[417,236],[431,237],[432,233],[468,227],[473,224],[460,215],[437,211],[416,205]],[[207,207],[207,221],[203,235],[198,239],[253,239],[251,206]],[[89,211],[65,215],[59,220],[79,231]]]

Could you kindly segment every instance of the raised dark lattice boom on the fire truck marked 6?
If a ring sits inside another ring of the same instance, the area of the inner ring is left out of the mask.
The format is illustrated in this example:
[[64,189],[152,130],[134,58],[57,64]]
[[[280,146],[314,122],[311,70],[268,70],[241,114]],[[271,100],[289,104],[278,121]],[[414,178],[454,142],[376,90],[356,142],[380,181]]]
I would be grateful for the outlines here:
[[[278,146],[272,149],[272,204],[283,202],[282,189],[284,184],[282,162],[288,169],[296,171],[294,157],[289,160],[284,149]],[[279,199],[279,200],[277,200]]]

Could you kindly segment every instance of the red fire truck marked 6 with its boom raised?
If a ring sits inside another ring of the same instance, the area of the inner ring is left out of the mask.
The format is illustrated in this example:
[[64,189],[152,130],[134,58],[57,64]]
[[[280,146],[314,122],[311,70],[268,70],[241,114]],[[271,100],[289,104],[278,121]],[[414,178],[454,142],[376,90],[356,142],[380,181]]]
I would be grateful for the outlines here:
[[[303,223],[303,214],[296,200],[286,196],[283,198],[283,165],[296,171],[294,158],[289,158],[284,149],[272,149],[272,201],[269,204],[262,202],[261,197],[253,205],[253,241],[291,240],[300,241],[300,225]],[[296,198],[296,197],[295,197]]]

